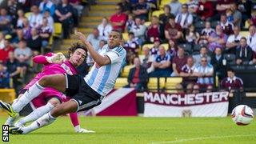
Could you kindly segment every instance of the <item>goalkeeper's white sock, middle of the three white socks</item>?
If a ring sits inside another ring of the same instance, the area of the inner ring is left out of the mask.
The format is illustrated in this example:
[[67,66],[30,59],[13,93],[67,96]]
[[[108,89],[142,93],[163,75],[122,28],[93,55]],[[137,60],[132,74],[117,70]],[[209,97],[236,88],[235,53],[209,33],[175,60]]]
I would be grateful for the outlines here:
[[20,127],[22,125],[25,125],[27,122],[32,122],[34,120],[37,120],[38,118],[42,117],[42,115],[48,113],[50,110],[52,110],[54,106],[48,102],[45,106],[41,106],[38,109],[32,111],[29,115],[27,115],[24,118],[21,118],[14,124],[14,126]]

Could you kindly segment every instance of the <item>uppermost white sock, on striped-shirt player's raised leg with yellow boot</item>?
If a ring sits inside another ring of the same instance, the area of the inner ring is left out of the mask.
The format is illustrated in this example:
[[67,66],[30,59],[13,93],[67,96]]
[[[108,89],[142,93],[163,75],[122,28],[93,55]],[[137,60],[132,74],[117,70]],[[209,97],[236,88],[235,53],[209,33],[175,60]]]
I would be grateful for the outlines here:
[[31,86],[28,90],[26,90],[25,94],[22,95],[21,98],[15,102],[12,107],[15,112],[20,112],[26,104],[28,104],[32,99],[36,98],[39,94],[41,94],[43,87],[36,82],[33,86]]

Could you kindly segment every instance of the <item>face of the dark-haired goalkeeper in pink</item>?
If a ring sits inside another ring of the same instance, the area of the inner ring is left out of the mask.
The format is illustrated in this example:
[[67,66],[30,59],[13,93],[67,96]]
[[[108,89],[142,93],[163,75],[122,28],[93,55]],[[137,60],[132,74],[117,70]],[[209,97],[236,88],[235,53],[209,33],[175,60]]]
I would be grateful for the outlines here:
[[73,54],[70,54],[70,62],[73,66],[80,66],[86,58],[86,51],[82,49],[74,50]]

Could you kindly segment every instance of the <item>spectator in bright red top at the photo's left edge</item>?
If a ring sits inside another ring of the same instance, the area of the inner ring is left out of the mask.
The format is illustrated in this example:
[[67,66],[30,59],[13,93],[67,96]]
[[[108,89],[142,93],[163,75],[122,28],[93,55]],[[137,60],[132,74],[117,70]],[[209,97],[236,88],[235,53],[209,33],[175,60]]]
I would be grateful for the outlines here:
[[4,48],[0,50],[0,62],[6,62],[10,51],[14,51],[14,47],[10,45],[10,38],[6,38],[4,42]]

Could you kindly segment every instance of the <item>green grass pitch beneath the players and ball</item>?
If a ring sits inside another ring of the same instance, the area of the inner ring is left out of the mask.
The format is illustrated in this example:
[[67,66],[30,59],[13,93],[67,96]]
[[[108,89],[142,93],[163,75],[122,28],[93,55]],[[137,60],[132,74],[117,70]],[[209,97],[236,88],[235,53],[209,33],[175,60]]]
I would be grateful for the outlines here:
[[[4,123],[5,117],[0,117]],[[236,126],[231,118],[81,117],[96,134],[75,134],[68,117],[10,143],[254,143],[256,122]]]

